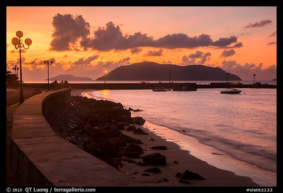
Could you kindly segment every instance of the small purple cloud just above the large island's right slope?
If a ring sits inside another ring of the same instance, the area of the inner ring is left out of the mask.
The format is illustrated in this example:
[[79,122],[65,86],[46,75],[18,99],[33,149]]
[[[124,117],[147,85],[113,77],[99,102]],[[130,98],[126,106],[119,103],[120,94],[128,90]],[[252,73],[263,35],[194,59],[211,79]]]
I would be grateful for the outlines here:
[[[195,54],[190,54],[190,55],[184,55],[182,57],[182,61],[181,63],[179,63],[180,65],[194,65],[194,64],[204,64],[204,62],[206,60],[210,59],[210,55],[211,53],[207,52],[207,53],[203,53],[200,51],[197,51]],[[196,62],[196,58],[200,58],[197,62]]]

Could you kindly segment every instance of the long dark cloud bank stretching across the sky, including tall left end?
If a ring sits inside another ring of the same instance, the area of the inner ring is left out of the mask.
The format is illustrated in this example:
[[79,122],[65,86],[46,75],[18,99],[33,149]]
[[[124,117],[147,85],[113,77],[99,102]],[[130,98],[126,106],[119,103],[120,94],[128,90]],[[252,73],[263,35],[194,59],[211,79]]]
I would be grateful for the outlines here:
[[50,44],[51,50],[127,50],[131,49],[132,54],[139,51],[139,47],[154,48],[188,48],[213,46],[226,48],[237,42],[236,36],[220,37],[213,41],[210,35],[200,34],[190,37],[184,33],[168,34],[154,40],[146,33],[136,32],[133,35],[123,35],[120,27],[109,22],[105,27],[99,27],[90,33],[89,23],[85,22],[82,16],[70,14],[57,14],[53,18],[54,33]]

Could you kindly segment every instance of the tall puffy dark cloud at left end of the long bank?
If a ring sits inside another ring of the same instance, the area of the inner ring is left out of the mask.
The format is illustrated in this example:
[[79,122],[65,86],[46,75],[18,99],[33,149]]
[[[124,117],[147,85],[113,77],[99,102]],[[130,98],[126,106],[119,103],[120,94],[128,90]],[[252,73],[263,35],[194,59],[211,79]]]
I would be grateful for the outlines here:
[[[70,14],[57,14],[53,17],[54,33],[50,44],[51,50],[64,51],[76,45],[77,40],[81,38],[81,44],[88,41],[89,23],[85,22],[81,15],[73,17]],[[74,50],[76,49],[73,48]]]

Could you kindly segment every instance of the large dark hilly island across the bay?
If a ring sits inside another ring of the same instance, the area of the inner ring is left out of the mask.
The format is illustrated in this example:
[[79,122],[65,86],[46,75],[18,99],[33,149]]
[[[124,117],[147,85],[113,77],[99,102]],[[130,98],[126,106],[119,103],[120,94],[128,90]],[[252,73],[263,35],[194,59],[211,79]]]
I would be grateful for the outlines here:
[[[219,67],[204,65],[179,66],[140,62],[120,66],[106,74],[107,81],[226,81],[227,72]],[[104,76],[96,79],[104,81]],[[228,74],[228,81],[242,81],[240,77]]]

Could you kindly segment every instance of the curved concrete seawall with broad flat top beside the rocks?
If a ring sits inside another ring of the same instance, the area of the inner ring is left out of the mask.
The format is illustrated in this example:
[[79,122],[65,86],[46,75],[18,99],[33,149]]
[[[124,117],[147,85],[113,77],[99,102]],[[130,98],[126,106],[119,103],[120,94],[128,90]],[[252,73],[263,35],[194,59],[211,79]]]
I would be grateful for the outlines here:
[[[71,88],[35,95],[15,111],[11,169],[22,186],[143,186],[58,136],[43,116],[71,102]],[[68,112],[66,112],[68,113]]]

